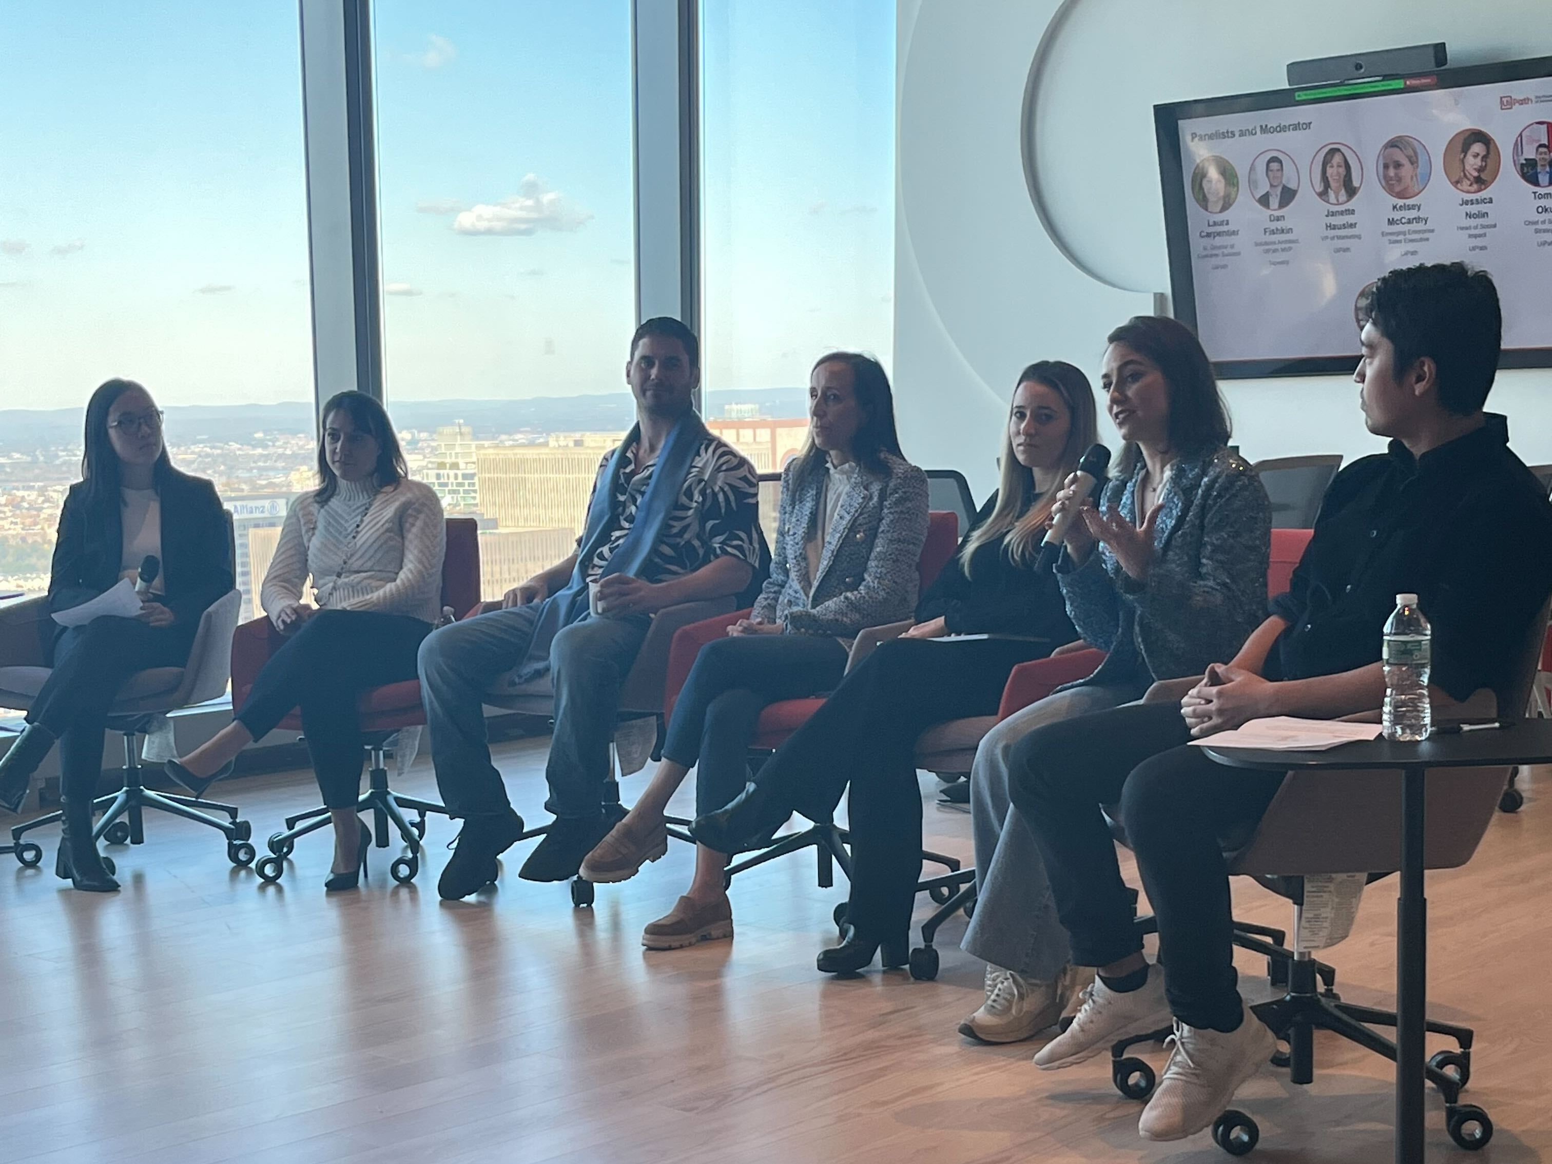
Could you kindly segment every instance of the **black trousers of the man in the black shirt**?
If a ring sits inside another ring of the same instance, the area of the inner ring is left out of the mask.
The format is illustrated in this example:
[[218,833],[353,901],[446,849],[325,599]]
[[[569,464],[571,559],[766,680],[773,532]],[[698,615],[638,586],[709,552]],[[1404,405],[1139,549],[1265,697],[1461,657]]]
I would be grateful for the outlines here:
[[1226,768],[1187,740],[1176,703],[1049,723],[1015,745],[1010,792],[1044,857],[1079,965],[1108,965],[1142,948],[1100,813],[1121,805],[1159,925],[1170,1010],[1193,1027],[1232,1031],[1242,1003],[1218,837],[1259,821],[1284,776]]

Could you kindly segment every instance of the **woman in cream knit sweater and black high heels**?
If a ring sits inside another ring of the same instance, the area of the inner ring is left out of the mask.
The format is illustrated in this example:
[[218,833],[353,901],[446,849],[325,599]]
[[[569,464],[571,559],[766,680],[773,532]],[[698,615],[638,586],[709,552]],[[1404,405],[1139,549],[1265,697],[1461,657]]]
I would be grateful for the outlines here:
[[[371,830],[355,813],[362,725],[355,700],[416,675],[442,615],[442,503],[411,481],[388,413],[363,393],[323,405],[318,487],[292,503],[259,599],[286,643],[233,722],[166,770],[203,796],[237,753],[301,708],[323,802],[334,823],[324,889],[354,889]],[[307,585],[309,577],[312,585]],[[310,593],[309,593],[310,591]]]

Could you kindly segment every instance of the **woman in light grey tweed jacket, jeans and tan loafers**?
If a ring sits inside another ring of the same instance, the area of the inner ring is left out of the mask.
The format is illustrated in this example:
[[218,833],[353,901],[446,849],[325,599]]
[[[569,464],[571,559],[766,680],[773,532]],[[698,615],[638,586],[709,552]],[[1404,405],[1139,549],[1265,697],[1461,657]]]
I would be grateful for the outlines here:
[[[663,762],[630,813],[587,860],[591,882],[622,882],[667,850],[664,812],[692,767],[697,812],[731,801],[748,778],[760,711],[830,691],[858,632],[916,607],[927,540],[927,476],[900,455],[889,379],[877,360],[823,357],[809,377],[809,444],[782,472],[771,574],[750,616],[705,647],[680,692]],[[697,846],[695,880],[643,944],[672,950],[731,937],[728,854]]]

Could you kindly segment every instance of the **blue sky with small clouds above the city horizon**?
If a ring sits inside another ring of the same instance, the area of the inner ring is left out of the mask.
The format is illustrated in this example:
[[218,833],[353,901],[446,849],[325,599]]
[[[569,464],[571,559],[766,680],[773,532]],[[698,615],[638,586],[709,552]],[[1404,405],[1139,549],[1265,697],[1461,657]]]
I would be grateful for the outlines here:
[[[0,393],[312,394],[293,0],[0,8]],[[377,0],[390,400],[610,391],[627,0]],[[888,362],[894,0],[708,0],[708,386]],[[714,402],[712,402],[714,407]]]

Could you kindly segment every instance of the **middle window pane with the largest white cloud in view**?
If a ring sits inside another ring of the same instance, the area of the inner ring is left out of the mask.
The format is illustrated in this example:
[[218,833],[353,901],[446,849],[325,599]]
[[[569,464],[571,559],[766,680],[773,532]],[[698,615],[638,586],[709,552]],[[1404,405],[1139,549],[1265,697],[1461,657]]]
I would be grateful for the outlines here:
[[385,394],[500,594],[571,551],[630,427],[629,0],[377,0]]

